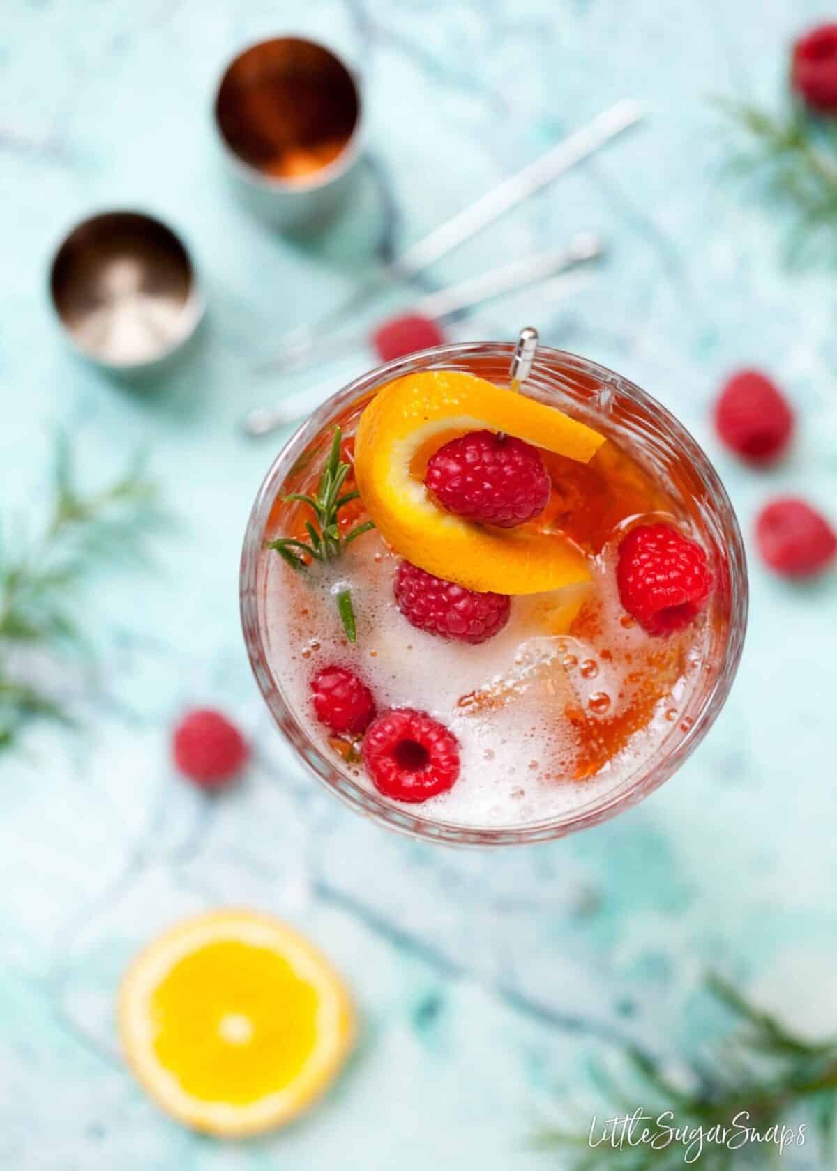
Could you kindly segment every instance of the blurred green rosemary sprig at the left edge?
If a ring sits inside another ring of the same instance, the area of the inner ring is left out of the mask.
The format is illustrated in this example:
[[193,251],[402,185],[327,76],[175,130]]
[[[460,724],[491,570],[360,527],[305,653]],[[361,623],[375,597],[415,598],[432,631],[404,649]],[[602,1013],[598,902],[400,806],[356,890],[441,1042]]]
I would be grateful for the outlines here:
[[70,723],[43,684],[27,677],[27,660],[35,651],[55,655],[82,642],[73,590],[94,562],[136,552],[158,519],[156,488],[140,461],[86,494],[75,482],[69,441],[59,434],[53,499],[40,536],[0,541],[0,751],[33,718]]

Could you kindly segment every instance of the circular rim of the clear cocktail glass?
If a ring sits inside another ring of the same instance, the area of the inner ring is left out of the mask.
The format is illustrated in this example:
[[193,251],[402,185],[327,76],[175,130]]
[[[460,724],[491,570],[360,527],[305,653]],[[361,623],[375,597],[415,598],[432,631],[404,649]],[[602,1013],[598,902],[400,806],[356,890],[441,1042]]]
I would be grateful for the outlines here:
[[299,456],[342,408],[416,369],[442,369],[449,362],[461,362],[469,357],[497,357],[508,358],[511,362],[513,350],[515,344],[511,342],[461,342],[438,345],[376,367],[347,383],[326,399],[285,440],[259,487],[244,535],[239,593],[244,641],[257,684],[279,731],[290,741],[307,771],[313,773],[346,804],[389,829],[424,841],[465,845],[511,845],[544,842],[596,826],[622,809],[630,808],[659,788],[703,739],[726,701],[743,650],[749,605],[743,539],[733,505],[709,458],[686,427],[652,395],[631,379],[588,358],[539,344],[528,384],[537,386],[539,376],[552,375],[554,378],[562,369],[569,369],[593,377],[601,384],[617,385],[620,392],[627,395],[646,415],[661,424],[667,434],[673,438],[678,448],[699,474],[701,484],[723,522],[724,549],[728,557],[729,628],[722,662],[710,687],[700,697],[693,697],[693,699],[700,699],[699,711],[694,715],[690,711],[681,713],[681,720],[685,720],[687,715],[692,719],[690,726],[683,731],[682,737],[673,748],[668,747],[671,734],[665,737],[651,756],[644,760],[638,769],[630,772],[613,789],[599,793],[585,804],[576,806],[566,814],[508,828],[445,822],[394,806],[375,792],[345,775],[312,740],[288,704],[281,680],[271,669],[259,623],[259,560],[264,547],[267,518],[279,488]]

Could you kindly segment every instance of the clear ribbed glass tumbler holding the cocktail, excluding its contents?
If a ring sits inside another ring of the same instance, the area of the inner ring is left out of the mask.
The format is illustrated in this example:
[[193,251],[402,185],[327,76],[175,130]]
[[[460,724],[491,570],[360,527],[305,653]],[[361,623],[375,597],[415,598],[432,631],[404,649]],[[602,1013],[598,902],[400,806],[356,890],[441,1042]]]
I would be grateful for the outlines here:
[[293,491],[294,470],[320,454],[336,423],[352,434],[369,398],[394,378],[420,370],[463,370],[498,385],[509,384],[515,347],[474,342],[424,350],[379,367],[332,396],[287,440],[256,498],[244,537],[240,605],[244,639],[265,701],[302,765],[336,796],[383,826],[448,844],[511,845],[562,837],[594,826],[635,804],[662,785],[698,747],[729,694],[747,626],[747,566],[733,506],[706,454],[686,429],[654,398],[627,378],[547,347],[538,347],[524,392],[557,406],[617,439],[674,495],[714,563],[710,645],[700,683],[659,747],[613,789],[598,793],[565,815],[523,826],[470,827],[445,823],[396,806],[358,783],[338,759],[326,756],[290,706],[283,664],[267,653],[264,602],[267,556],[265,533],[278,499]]

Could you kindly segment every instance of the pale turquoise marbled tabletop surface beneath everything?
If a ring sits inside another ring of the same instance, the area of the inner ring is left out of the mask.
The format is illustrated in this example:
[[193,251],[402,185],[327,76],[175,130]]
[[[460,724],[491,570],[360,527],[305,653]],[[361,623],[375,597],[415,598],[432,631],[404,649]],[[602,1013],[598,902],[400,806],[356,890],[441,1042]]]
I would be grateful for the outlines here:
[[[388,836],[301,775],[263,711],[237,612],[240,539],[277,443],[252,445],[236,423],[302,384],[254,374],[272,335],[351,289],[370,249],[417,239],[625,95],[648,104],[645,129],[431,278],[581,227],[606,235],[607,262],[569,295],[509,297],[454,336],[531,322],[639,382],[706,444],[748,539],[771,493],[808,494],[835,519],[833,273],[783,266],[789,219],[722,178],[734,136],[709,103],[775,103],[790,37],[821,14],[814,0],[5,0],[0,504],[34,523],[63,425],[90,482],[148,445],[179,523],[155,542],[151,573],[109,570],[87,595],[100,669],[62,684],[81,690],[87,731],[35,727],[0,763],[0,1166],[560,1165],[526,1149],[533,1128],[584,1098],[586,1061],[619,1038],[687,1050],[708,1020],[707,967],[802,1027],[837,1026],[833,575],[789,588],[751,556],[743,665],[702,748],[611,824],[510,852]],[[318,247],[231,200],[209,116],[226,59],[288,29],[362,71],[377,176]],[[209,297],[190,359],[147,391],[76,362],[45,295],[63,231],[113,205],[179,226]],[[336,386],[370,361],[359,351],[325,374]],[[794,453],[769,474],[739,467],[708,423],[720,378],[742,363],[773,371],[799,411]],[[256,744],[246,781],[211,804],[168,763],[172,720],[196,701],[230,708]],[[113,1029],[136,949],[230,903],[302,925],[365,1021],[336,1091],[241,1146],[161,1117]]]

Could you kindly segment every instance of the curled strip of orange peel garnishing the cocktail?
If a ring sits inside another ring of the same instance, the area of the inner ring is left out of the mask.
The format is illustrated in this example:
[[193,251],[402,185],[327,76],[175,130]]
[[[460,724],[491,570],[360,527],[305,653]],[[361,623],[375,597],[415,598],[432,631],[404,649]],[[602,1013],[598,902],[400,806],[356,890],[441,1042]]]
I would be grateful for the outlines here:
[[474,525],[430,499],[422,480],[433,452],[483,430],[581,463],[605,441],[562,411],[484,378],[450,370],[407,375],[372,399],[355,437],[358,487],[381,535],[408,561],[468,589],[538,594],[588,580],[584,554],[560,534]]

